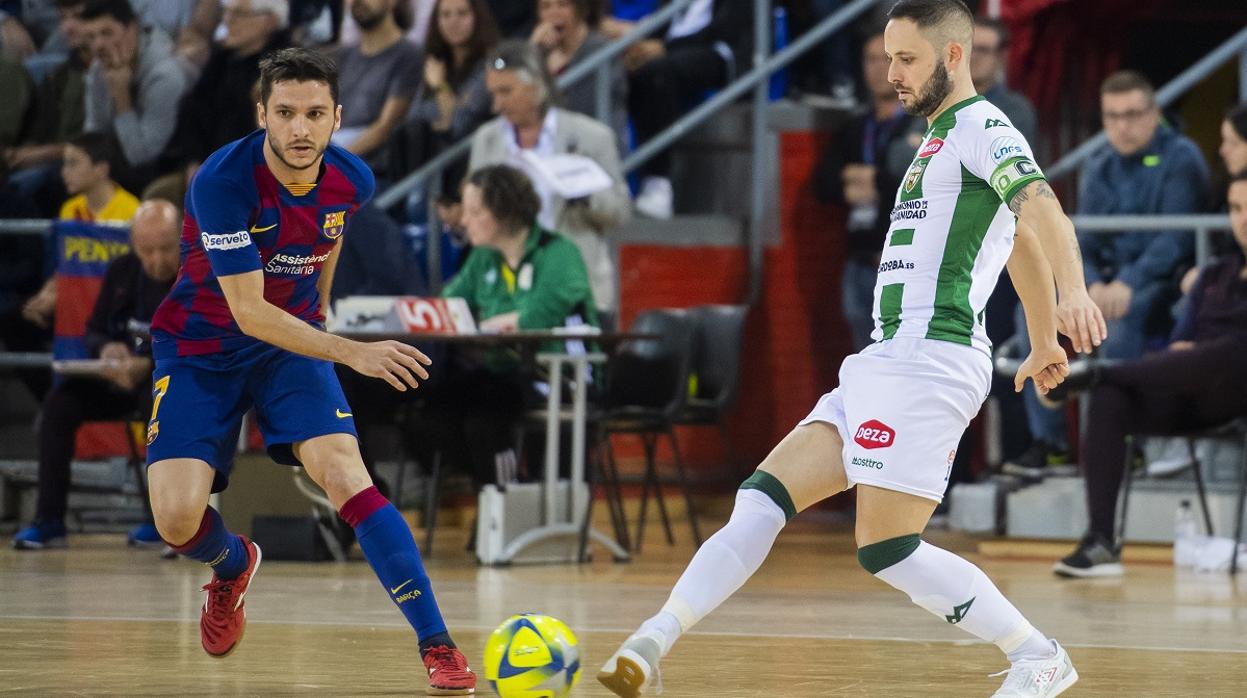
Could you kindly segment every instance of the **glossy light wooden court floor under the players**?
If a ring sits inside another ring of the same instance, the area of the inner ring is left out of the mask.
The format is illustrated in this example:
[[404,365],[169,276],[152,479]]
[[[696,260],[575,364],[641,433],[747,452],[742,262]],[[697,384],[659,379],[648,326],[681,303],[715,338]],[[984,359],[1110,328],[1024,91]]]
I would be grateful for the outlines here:
[[[1061,581],[1050,558],[969,552],[1031,621],[1069,648],[1082,681],[1066,696],[1247,696],[1247,578],[1129,566],[1122,580]],[[628,565],[476,567],[449,531],[429,561],[441,608],[474,667],[504,617],[537,611],[579,634],[576,696],[666,598],[692,552],[651,532]],[[358,551],[357,551],[358,557]],[[77,536],[61,551],[0,551],[0,694],[423,694],[415,643],[362,561],[264,562],[248,629],[226,659],[198,643],[202,566]],[[980,697],[1001,679],[990,646],[868,576],[844,526],[796,522],[763,570],[681,641],[663,696]],[[476,667],[479,669],[479,667]],[[481,694],[489,696],[488,686]]]

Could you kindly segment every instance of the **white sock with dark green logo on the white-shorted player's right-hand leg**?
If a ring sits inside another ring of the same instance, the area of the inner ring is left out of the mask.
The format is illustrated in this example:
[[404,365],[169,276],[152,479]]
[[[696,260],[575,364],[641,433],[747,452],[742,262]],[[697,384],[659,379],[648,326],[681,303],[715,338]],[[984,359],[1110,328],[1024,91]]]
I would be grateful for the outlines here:
[[970,561],[920,542],[877,577],[941,619],[1000,647],[1010,661],[1052,656],[1052,644]]

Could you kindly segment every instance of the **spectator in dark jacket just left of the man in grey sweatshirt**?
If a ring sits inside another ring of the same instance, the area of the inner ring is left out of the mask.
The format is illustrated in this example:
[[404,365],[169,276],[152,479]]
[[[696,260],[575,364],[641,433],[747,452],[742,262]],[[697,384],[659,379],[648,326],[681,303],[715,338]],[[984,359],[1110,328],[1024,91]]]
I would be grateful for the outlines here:
[[[65,142],[82,132],[86,116],[86,70],[91,47],[82,31],[82,9],[87,0],[56,0],[60,16],[57,35],[66,45],[66,59],[35,86],[34,103],[26,116],[21,142],[4,152],[7,182],[0,194],[0,216],[49,217],[59,206],[61,189],[57,170]],[[22,76],[25,80],[25,76]],[[4,82],[0,90],[17,88]]]

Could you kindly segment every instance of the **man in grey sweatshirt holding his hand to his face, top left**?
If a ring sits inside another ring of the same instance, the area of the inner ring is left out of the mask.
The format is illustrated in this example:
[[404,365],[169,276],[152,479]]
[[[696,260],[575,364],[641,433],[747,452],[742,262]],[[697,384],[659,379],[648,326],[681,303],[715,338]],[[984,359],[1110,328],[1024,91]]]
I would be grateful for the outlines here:
[[172,60],[168,35],[141,27],[127,0],[90,0],[82,30],[94,56],[86,75],[86,130],[117,140],[130,170],[118,179],[140,191],[173,136],[186,72]]

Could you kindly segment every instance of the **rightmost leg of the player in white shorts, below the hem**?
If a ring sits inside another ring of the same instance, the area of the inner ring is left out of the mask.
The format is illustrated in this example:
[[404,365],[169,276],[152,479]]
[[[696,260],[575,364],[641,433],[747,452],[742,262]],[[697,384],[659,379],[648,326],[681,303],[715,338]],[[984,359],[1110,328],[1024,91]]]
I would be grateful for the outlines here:
[[991,642],[1013,662],[996,696],[1057,696],[1077,681],[1059,644],[1023,617],[983,570],[923,542],[935,501],[869,485],[858,486],[858,561],[918,606]]

